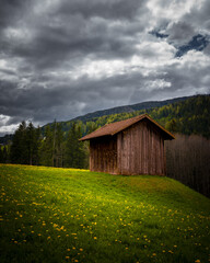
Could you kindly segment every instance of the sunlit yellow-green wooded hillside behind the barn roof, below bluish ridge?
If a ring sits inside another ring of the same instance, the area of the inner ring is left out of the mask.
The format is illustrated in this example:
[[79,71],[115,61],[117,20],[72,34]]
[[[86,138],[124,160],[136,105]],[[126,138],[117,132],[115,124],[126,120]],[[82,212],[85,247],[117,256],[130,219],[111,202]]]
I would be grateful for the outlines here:
[[62,130],[66,133],[71,128],[73,123],[77,123],[81,128],[82,136],[84,136],[105,124],[122,121],[143,113],[148,113],[172,133],[184,135],[195,134],[210,138],[210,95],[191,96],[187,100],[178,100],[175,103],[161,107],[103,115],[90,118],[89,121],[61,122],[60,124]]

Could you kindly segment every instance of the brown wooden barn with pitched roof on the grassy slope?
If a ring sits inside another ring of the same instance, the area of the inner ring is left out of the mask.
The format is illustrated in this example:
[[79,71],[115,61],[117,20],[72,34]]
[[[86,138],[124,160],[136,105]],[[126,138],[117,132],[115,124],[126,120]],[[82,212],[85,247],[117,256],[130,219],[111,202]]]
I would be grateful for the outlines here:
[[175,137],[148,114],[107,124],[90,140],[90,170],[113,174],[165,174],[164,140]]

